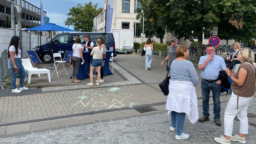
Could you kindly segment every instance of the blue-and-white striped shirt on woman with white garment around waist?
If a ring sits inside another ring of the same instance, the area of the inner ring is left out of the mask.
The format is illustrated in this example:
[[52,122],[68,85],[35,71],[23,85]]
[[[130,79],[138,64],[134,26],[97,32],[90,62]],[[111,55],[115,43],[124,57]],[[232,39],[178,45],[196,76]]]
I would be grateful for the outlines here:
[[197,71],[191,61],[174,60],[170,68],[171,81],[191,81],[198,85]]

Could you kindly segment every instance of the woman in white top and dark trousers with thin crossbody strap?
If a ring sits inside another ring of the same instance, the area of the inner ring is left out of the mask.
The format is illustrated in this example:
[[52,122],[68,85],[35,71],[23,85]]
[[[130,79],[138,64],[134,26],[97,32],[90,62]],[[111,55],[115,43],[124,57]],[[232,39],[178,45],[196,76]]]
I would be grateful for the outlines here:
[[73,62],[73,72],[72,72],[72,82],[79,83],[81,81],[78,80],[78,70],[80,67],[80,62],[82,58],[82,63],[85,62],[82,56],[82,45],[80,44],[81,39],[77,37],[75,39],[75,44],[73,44],[73,55],[72,55],[72,62]]

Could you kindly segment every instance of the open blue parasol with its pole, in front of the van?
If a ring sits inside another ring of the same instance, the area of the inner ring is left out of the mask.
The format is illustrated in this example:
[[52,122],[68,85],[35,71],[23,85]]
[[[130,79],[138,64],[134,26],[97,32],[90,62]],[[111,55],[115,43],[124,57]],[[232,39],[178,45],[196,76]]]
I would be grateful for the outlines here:
[[[47,23],[45,25],[37,26],[37,27],[32,27],[28,28],[25,31],[74,31],[66,27],[61,27],[59,25],[56,25],[55,23]],[[50,41],[52,42],[52,37],[50,35]],[[52,45],[51,47],[51,65],[52,65]]]

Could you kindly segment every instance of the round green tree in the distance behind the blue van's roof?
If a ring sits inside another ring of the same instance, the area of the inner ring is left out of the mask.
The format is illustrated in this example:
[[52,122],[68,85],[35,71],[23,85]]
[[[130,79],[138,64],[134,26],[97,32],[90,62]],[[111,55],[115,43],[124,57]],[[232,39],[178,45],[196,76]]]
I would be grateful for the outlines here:
[[73,26],[74,31],[92,31],[93,19],[96,14],[101,10],[97,9],[98,4],[92,5],[92,2],[78,4],[76,7],[69,9],[67,20],[64,21],[65,25]]

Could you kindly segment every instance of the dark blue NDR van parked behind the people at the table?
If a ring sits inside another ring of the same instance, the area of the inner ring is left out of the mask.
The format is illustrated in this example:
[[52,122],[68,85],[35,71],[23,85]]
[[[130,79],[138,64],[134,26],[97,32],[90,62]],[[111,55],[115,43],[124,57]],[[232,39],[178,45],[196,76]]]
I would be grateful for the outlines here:
[[[59,33],[56,36],[52,38],[52,47],[53,47],[53,53],[59,52],[64,58],[66,50],[73,50],[72,46],[75,43],[75,39],[77,37],[81,38],[81,44],[83,43],[82,36],[86,34],[90,40],[93,41],[94,46],[96,46],[96,40],[99,36],[105,35],[105,45],[107,50],[113,51],[113,56],[116,56],[115,53],[115,44],[114,44],[114,36],[110,32],[64,32]],[[46,63],[50,63],[52,60],[51,57],[51,50],[50,50],[50,41],[48,40],[46,43],[43,43],[40,45],[37,45],[35,47],[35,51],[37,55],[41,58],[42,61]]]

